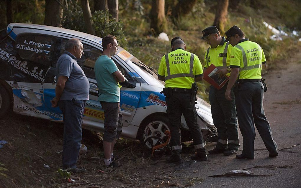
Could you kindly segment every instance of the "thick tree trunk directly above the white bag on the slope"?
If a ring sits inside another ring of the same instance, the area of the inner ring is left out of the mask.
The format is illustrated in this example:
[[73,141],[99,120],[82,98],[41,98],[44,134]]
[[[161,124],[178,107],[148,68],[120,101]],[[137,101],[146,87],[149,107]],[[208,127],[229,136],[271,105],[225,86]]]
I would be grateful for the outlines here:
[[151,8],[151,30],[154,29],[154,35],[167,31],[167,21],[165,19],[164,0],[152,0]]

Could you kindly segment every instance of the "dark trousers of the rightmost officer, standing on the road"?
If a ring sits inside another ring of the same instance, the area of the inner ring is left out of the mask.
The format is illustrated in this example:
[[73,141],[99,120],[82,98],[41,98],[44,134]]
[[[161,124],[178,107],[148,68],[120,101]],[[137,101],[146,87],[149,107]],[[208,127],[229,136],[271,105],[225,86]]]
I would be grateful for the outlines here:
[[254,158],[254,124],[269,152],[277,151],[270,124],[263,109],[264,87],[262,82],[246,82],[235,89],[235,103],[240,132],[243,136],[242,155]]

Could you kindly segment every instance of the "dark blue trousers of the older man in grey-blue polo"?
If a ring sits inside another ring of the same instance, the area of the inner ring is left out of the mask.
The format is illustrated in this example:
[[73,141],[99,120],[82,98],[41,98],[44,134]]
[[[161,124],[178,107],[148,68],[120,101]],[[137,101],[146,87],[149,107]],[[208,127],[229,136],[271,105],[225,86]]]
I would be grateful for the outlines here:
[[76,168],[82,141],[82,115],[85,100],[59,100],[58,106],[64,115],[63,169]]

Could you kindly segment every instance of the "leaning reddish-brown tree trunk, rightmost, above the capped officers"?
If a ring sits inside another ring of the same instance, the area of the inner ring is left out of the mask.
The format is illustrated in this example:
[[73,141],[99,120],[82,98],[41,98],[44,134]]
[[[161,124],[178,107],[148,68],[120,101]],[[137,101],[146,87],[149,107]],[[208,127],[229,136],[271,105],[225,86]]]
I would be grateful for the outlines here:
[[220,32],[225,32],[226,16],[228,14],[229,0],[219,0],[216,8],[216,14],[213,25],[219,29]]

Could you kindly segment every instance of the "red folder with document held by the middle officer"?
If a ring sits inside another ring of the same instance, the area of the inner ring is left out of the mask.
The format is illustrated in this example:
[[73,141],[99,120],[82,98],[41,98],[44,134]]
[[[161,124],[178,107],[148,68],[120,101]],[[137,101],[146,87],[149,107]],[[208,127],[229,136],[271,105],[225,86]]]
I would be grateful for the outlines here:
[[220,89],[229,80],[229,76],[225,75],[222,78],[219,78],[219,74],[217,74],[218,70],[219,69],[216,68],[216,66],[211,64],[204,71],[204,80],[206,80],[209,84],[213,85],[215,88]]

